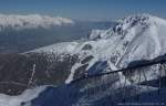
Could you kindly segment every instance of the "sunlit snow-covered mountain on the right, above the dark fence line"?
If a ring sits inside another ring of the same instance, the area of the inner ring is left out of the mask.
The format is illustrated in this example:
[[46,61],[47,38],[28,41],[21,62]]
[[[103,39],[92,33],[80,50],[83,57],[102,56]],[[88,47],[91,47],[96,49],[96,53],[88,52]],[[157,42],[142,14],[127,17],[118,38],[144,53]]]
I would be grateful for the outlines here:
[[[75,73],[98,73],[126,67],[133,61],[153,60],[166,53],[166,21],[149,14],[129,15],[108,30],[94,30],[84,42],[54,44],[31,52],[80,55],[71,68]],[[60,45],[60,46],[59,46]],[[98,70],[98,67],[102,67]],[[158,67],[153,67],[157,70]],[[153,72],[154,74],[154,72]],[[157,72],[156,72],[157,74]],[[149,74],[151,76],[151,74]]]

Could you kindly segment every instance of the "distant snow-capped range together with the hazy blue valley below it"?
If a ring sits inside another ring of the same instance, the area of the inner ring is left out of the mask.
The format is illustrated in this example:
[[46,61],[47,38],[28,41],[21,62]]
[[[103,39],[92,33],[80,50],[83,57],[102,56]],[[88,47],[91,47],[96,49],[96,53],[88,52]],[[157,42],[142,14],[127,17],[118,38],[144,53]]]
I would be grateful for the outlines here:
[[85,39],[115,22],[81,22],[40,14],[0,14],[0,53],[20,53],[62,41]]

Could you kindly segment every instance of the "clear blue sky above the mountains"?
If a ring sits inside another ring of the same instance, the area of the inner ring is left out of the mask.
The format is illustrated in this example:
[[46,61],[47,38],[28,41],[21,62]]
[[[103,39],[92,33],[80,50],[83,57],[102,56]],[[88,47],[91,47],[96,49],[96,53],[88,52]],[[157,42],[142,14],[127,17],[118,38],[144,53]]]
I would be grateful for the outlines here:
[[143,12],[166,18],[166,0],[0,0],[0,13],[40,13],[76,20],[112,20]]

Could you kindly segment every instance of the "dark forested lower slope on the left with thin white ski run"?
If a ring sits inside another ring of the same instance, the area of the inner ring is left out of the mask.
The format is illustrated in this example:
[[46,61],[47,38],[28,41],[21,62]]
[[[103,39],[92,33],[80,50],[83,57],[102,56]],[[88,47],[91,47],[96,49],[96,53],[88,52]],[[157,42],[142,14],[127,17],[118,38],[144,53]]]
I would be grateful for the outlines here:
[[0,54],[0,93],[19,95],[30,87],[62,84],[77,56],[65,54],[61,61],[60,57],[49,59],[39,53]]

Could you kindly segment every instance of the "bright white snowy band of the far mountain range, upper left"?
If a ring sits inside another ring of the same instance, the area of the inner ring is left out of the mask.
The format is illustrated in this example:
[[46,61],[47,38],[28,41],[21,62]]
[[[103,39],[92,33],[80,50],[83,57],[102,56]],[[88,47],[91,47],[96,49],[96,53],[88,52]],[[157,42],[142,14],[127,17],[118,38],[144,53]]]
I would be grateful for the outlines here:
[[63,24],[73,24],[74,21],[61,17],[49,17],[40,14],[0,14],[0,30],[6,28],[12,28],[14,30],[22,29],[35,29],[44,28],[48,29],[52,25],[61,26]]

